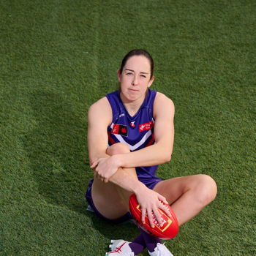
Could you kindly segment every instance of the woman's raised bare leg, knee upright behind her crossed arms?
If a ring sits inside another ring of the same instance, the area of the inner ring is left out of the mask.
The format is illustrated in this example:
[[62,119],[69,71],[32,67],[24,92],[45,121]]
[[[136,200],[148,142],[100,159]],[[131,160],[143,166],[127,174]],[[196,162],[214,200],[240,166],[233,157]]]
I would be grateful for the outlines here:
[[[107,154],[110,156],[128,152],[129,148],[124,143],[116,143],[107,149]],[[138,179],[135,168],[122,169],[129,172],[129,175]],[[116,173],[113,176],[115,175]],[[118,217],[124,216],[124,214],[129,211],[128,202],[131,193],[111,182],[104,183],[98,178],[94,178],[91,194],[97,210],[108,219],[117,219]]]

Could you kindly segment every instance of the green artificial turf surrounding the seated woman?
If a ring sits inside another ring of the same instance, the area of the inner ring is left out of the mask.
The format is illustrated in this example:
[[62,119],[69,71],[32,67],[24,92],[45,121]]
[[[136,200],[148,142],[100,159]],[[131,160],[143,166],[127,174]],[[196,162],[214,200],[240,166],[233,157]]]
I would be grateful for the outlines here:
[[[0,255],[108,252],[135,225],[86,211],[87,110],[132,48],[176,105],[170,178],[206,173],[216,200],[166,241],[176,256],[256,255],[256,3],[0,1]],[[146,251],[143,255],[147,255]]]

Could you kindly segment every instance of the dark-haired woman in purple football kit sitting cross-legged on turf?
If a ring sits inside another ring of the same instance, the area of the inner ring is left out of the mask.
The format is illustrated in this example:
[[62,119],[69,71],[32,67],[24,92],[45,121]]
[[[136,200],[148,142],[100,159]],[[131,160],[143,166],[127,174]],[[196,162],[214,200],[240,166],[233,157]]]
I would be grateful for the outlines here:
[[[86,199],[94,211],[113,223],[132,219],[129,196],[135,193],[142,221],[152,212],[159,225],[157,208],[170,204],[178,224],[195,217],[214,200],[217,186],[206,175],[157,178],[157,165],[170,161],[174,138],[174,105],[164,94],[149,89],[154,81],[154,62],[146,50],[132,50],[117,71],[120,90],[99,99],[89,108],[88,146],[94,179]],[[159,238],[140,229],[132,242],[111,241],[106,255],[172,255]]]

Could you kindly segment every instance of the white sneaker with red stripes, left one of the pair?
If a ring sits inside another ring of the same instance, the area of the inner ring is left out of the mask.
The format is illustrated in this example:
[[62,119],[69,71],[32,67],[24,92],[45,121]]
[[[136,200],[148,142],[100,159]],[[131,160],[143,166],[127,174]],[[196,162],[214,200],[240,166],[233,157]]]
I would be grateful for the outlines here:
[[111,252],[106,252],[105,256],[135,256],[132,249],[129,247],[129,242],[124,240],[111,240]]

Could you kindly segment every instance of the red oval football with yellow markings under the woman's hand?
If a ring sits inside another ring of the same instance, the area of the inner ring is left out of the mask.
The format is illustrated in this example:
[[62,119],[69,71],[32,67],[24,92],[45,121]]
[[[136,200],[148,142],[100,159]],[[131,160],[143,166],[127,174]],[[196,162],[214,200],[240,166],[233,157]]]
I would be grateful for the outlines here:
[[147,214],[145,217],[145,224],[141,222],[141,209],[136,195],[132,194],[131,197],[129,197],[129,208],[132,213],[132,217],[135,219],[137,225],[143,230],[145,230],[146,233],[150,234],[151,236],[157,236],[163,240],[174,238],[178,233],[178,220],[175,214],[173,213],[172,208],[170,208],[169,205],[165,206],[167,206],[167,208],[169,209],[172,217],[168,217],[164,211],[158,208],[158,211],[161,214],[163,226],[159,226],[157,219],[155,219],[153,214],[154,227],[152,228],[148,221]]

